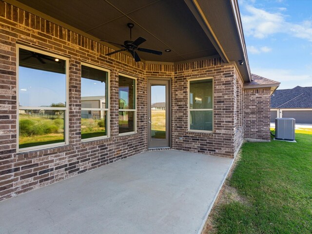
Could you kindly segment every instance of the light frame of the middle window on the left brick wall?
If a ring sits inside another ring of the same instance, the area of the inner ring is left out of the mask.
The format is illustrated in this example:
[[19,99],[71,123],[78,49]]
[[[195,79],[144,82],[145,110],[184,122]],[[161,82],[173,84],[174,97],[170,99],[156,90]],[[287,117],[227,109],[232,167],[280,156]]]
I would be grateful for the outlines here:
[[[111,71],[108,70],[108,69],[105,69],[105,68],[102,68],[102,67],[99,67],[99,66],[95,66],[95,65],[91,65],[89,63],[84,63],[84,62],[81,62],[81,70],[82,70],[82,66],[86,66],[86,67],[91,67],[91,68],[95,68],[95,69],[98,69],[98,70],[102,70],[104,72],[107,72],[107,76],[108,76],[108,79],[107,79],[107,88],[108,88],[108,108],[82,108],[81,107],[81,111],[107,111],[107,126],[106,126],[106,136],[101,136],[101,137],[90,137],[90,138],[85,138],[85,139],[81,139],[82,142],[86,142],[86,141],[92,141],[92,140],[99,140],[99,139],[104,139],[104,138],[108,138],[110,137],[110,97],[111,97],[111,93],[110,93],[110,76],[111,76]],[[81,73],[82,75],[82,73]],[[82,76],[81,76],[82,78]],[[106,95],[106,94],[105,94]],[[80,101],[81,101],[81,93],[80,93]],[[105,103],[107,101],[107,97],[105,97]],[[80,113],[80,119],[81,119],[81,113]],[[81,136],[81,129],[80,129],[80,136]]]

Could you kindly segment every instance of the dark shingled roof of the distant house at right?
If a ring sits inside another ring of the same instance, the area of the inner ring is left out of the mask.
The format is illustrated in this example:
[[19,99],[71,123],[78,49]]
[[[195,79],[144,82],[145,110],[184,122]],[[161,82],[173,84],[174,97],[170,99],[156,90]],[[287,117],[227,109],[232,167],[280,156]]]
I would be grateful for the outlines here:
[[271,96],[271,108],[312,108],[312,87],[276,90]]

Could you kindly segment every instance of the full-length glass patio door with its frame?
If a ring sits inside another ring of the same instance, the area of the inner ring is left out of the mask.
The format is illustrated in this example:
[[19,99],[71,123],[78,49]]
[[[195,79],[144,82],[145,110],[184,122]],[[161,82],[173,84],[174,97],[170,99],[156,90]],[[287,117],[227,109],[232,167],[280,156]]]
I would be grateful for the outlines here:
[[148,148],[170,147],[169,80],[148,80]]

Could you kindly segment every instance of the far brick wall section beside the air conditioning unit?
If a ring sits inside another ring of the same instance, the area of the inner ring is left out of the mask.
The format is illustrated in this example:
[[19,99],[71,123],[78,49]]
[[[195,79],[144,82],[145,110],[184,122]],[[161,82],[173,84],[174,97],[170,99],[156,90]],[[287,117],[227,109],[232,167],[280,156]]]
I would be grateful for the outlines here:
[[270,141],[270,88],[244,90],[244,137]]

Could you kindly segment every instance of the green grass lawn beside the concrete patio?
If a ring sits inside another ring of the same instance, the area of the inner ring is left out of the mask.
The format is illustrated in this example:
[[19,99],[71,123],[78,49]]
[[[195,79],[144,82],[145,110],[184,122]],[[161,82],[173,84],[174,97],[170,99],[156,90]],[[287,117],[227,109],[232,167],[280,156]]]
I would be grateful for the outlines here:
[[240,199],[216,205],[213,233],[312,233],[312,132],[302,131],[297,143],[242,146],[227,181]]

